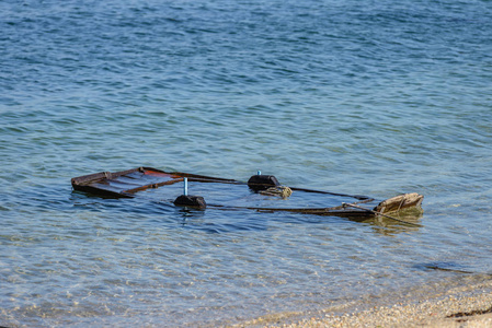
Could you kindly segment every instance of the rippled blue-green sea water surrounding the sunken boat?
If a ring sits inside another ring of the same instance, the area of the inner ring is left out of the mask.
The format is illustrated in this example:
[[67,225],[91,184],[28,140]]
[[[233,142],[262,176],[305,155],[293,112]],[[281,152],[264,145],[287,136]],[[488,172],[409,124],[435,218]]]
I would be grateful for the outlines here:
[[[218,326],[487,279],[491,54],[490,1],[0,1],[0,324]],[[71,190],[138,166],[415,191],[424,227]]]

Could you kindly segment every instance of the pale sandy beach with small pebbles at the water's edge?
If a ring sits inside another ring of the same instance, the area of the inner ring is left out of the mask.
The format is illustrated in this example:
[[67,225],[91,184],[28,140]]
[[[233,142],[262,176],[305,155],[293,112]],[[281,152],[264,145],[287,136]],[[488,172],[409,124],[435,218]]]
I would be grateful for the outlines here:
[[425,300],[342,313],[278,314],[236,327],[492,327],[492,281],[456,288]]

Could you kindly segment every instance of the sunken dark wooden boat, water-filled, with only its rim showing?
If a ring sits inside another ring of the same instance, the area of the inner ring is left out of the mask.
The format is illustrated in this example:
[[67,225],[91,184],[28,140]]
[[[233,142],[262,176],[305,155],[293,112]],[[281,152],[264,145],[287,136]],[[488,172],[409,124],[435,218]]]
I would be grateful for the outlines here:
[[[71,185],[75,190],[105,198],[147,197],[159,202],[202,210],[248,209],[342,218],[382,215],[394,219],[391,216],[393,213],[407,209],[421,210],[424,198],[413,192],[377,201],[367,196],[285,187],[275,176],[260,173],[245,183],[152,167],[79,176],[71,179]],[[193,195],[188,195],[188,186]]]

